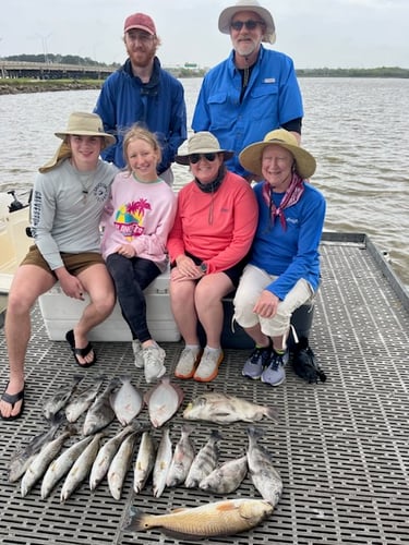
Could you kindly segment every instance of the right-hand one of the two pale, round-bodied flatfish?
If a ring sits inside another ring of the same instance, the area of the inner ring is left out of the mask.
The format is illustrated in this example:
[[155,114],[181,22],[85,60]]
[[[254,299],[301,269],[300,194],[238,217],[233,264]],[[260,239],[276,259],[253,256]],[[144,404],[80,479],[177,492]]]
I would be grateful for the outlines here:
[[145,393],[145,403],[154,427],[163,426],[177,412],[183,401],[182,389],[170,382],[169,376],[164,376]]

